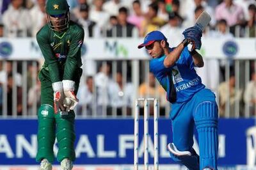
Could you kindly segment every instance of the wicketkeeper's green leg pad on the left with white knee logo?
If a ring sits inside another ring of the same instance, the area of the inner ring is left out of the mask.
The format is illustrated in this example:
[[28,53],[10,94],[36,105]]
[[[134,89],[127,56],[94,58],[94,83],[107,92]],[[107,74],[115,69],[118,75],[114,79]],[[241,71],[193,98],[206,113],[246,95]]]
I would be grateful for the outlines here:
[[[44,111],[45,114],[39,114]],[[47,113],[48,112],[48,113]],[[55,141],[55,120],[49,116],[53,109],[49,105],[41,105],[38,109],[38,151],[36,161],[40,162],[47,158],[49,162],[54,161],[53,144]]]

